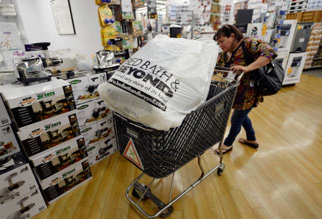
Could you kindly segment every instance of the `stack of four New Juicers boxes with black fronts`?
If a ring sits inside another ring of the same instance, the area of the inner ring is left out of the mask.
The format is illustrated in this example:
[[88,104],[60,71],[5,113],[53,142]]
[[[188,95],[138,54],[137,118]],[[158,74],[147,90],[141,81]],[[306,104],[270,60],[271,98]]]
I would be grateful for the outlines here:
[[92,178],[68,82],[6,84],[0,91],[48,203]]

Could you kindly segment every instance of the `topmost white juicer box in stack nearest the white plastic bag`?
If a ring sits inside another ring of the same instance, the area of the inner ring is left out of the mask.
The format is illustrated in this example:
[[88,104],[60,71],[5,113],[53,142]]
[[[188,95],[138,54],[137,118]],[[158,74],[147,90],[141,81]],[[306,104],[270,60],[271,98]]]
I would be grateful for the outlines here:
[[76,105],[99,98],[97,86],[107,81],[105,72],[93,73],[92,71],[78,73],[70,78],[66,76],[59,76],[59,78],[71,84]]

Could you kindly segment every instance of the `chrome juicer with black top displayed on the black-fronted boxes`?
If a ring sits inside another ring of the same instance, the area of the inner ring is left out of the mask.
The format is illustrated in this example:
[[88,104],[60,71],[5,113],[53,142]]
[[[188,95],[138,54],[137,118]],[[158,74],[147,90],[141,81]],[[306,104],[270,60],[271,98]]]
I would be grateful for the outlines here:
[[45,68],[56,66],[62,63],[61,58],[50,58],[48,54],[48,45],[50,42],[33,43],[31,45],[40,46],[44,51],[45,57],[32,56],[22,58],[14,67],[16,78],[23,84],[29,84],[35,81],[51,80],[51,72]]

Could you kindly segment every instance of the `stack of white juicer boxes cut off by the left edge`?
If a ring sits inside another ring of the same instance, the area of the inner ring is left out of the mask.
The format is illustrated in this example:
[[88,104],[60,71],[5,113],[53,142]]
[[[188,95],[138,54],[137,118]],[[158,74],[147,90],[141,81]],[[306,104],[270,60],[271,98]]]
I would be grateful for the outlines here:
[[1,218],[32,217],[47,208],[0,96]]

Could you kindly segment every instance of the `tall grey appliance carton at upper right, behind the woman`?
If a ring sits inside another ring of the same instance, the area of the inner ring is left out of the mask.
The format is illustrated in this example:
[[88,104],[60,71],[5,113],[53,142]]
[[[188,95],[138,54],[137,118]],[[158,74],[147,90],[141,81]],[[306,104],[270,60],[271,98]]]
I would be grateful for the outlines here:
[[297,23],[290,52],[305,52],[311,36],[313,22]]

